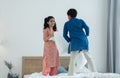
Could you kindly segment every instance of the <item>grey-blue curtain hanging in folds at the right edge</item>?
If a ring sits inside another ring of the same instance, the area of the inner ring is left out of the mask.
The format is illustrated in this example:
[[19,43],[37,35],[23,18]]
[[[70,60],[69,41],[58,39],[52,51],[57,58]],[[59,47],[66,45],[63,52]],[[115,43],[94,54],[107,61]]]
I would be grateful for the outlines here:
[[120,0],[108,0],[107,71],[120,73]]

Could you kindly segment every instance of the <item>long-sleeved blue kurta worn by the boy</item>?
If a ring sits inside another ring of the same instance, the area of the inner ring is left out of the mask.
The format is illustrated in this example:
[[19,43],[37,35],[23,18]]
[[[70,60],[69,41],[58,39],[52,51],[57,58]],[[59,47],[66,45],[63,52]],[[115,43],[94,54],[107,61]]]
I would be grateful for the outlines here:
[[63,37],[70,43],[69,51],[88,50],[89,27],[82,19],[72,18],[63,29]]

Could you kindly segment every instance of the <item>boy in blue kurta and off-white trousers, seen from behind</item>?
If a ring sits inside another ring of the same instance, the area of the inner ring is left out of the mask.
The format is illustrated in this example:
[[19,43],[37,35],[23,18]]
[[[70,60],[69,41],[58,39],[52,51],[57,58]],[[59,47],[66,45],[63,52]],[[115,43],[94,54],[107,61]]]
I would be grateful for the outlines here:
[[[74,73],[74,66],[76,65],[75,57],[79,54],[79,52],[83,52],[84,56],[87,59],[87,63],[91,67],[91,70],[93,72],[96,72],[93,60],[90,54],[87,52],[88,51],[87,36],[89,36],[89,27],[82,19],[76,18],[77,16],[76,9],[73,8],[69,9],[67,15],[69,20],[64,24],[63,37],[69,43],[69,53],[71,54],[68,75],[73,75]],[[80,61],[80,59],[78,59],[78,61]]]

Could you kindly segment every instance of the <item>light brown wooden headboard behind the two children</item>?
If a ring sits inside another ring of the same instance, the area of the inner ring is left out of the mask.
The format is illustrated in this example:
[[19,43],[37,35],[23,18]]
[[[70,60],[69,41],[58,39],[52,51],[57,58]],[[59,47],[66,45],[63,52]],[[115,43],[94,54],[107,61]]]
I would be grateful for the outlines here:
[[[69,56],[60,56],[60,66],[68,68]],[[22,77],[27,74],[42,71],[42,56],[22,57]]]

